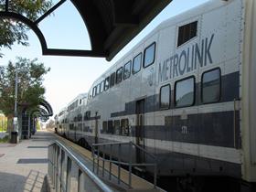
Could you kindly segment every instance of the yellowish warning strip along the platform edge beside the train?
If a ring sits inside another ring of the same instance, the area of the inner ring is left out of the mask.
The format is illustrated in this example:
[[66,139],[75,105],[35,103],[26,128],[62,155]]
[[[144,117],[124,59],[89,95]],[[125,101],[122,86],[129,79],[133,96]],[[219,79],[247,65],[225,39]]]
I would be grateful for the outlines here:
[[[58,134],[57,134],[58,135]],[[79,153],[82,156],[85,156],[86,158],[90,159],[91,161],[93,161],[93,158],[91,156],[91,151],[86,150],[85,148],[81,147],[78,144],[74,144],[72,142],[70,142],[69,140],[61,137],[58,135],[58,139],[65,143],[65,144],[69,144],[69,146],[76,151],[77,153]],[[99,162],[100,166],[102,166],[102,161]],[[97,164],[97,160],[95,159],[95,165]],[[105,171],[109,170],[109,162],[105,162]],[[112,164],[112,175],[113,176],[118,176],[118,166]],[[129,172],[126,171],[125,169],[121,168],[121,180],[123,181],[123,183],[128,184],[129,183]],[[154,185],[146,180],[144,180],[143,178],[139,177],[139,176],[135,176],[132,175],[132,188],[133,189],[143,189],[143,190],[147,190],[147,189],[153,189]]]

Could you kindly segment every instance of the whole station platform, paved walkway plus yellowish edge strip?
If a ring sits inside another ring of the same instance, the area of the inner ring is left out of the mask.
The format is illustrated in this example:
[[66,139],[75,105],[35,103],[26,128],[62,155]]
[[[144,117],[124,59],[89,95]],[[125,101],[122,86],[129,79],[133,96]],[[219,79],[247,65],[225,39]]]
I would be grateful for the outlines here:
[[[86,165],[92,171],[91,151],[60,137],[56,133],[38,131],[31,139],[21,140],[18,144],[0,144],[0,191],[55,191],[48,176],[48,146],[56,141],[67,147],[83,165]],[[102,162],[99,163],[99,177],[112,191],[162,191],[159,188],[153,189],[151,183],[134,175],[132,176],[132,188],[127,188],[125,183],[128,182],[128,172],[124,169],[121,171],[123,183],[117,187],[114,185],[114,183],[117,183],[117,165],[112,165],[112,182],[108,182],[105,178],[108,177],[107,169],[109,165],[105,165],[106,172],[105,176],[102,177]],[[75,179],[77,173],[71,173],[71,175],[70,191],[77,191],[78,180]]]

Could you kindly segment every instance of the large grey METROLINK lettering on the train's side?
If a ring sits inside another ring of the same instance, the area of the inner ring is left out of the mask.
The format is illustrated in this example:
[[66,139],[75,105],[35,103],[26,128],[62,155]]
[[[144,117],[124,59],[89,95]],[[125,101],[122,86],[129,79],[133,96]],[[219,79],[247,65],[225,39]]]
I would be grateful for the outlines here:
[[195,44],[159,63],[158,82],[179,77],[190,71],[212,64],[210,54],[214,34],[208,39],[202,39],[201,44]]

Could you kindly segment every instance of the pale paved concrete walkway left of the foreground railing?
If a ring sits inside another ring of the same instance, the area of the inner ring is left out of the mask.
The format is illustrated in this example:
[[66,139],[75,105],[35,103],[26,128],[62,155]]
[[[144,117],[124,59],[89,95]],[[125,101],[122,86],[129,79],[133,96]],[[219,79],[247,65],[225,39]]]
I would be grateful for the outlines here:
[[0,144],[0,192],[47,192],[48,144],[54,138],[39,131],[19,144]]

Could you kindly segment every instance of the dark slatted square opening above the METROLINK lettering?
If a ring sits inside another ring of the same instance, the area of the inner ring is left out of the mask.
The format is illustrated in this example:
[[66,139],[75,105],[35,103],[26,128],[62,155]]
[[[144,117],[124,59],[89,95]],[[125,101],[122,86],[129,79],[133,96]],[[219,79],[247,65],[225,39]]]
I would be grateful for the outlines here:
[[178,27],[177,47],[197,36],[197,21]]

